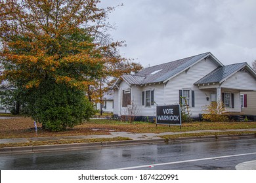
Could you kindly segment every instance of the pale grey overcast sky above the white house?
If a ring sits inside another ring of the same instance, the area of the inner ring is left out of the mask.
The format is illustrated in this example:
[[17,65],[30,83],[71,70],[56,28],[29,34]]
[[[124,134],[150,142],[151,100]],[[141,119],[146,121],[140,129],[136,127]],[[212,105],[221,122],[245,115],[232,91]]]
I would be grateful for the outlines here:
[[255,0],[102,0],[121,54],[145,66],[211,52],[224,65],[256,59]]

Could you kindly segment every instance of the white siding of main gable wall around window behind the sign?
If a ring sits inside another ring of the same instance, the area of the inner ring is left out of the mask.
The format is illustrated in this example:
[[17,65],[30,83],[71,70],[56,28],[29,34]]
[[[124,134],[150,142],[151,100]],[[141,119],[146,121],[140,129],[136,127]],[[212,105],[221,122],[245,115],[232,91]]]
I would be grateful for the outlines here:
[[191,67],[187,72],[183,72],[169,80],[165,86],[165,100],[163,105],[179,104],[179,90],[194,90],[195,107],[190,107],[190,112],[192,113],[192,116],[198,117],[198,114],[202,114],[203,107],[209,105],[209,101],[207,101],[206,98],[210,97],[210,92],[207,90],[199,90],[198,86],[194,86],[194,83],[216,69],[216,67],[217,65],[209,59],[203,59]]

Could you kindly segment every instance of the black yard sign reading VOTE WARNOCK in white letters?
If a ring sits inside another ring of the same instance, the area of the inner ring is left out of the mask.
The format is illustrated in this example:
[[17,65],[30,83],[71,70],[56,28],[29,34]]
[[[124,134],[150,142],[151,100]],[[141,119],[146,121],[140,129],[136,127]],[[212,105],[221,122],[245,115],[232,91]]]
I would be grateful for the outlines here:
[[156,107],[156,124],[181,125],[180,105],[158,105]]

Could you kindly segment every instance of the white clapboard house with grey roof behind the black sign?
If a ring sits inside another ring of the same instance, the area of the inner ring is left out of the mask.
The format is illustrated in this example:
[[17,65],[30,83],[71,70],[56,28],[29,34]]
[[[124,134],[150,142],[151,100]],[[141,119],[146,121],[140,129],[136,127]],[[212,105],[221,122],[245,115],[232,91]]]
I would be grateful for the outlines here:
[[155,118],[156,105],[177,105],[183,96],[192,118],[199,118],[205,105],[217,99],[229,112],[241,112],[240,94],[256,91],[256,73],[247,63],[224,66],[207,52],[123,75],[112,89],[115,116],[129,115],[133,103],[137,120]]

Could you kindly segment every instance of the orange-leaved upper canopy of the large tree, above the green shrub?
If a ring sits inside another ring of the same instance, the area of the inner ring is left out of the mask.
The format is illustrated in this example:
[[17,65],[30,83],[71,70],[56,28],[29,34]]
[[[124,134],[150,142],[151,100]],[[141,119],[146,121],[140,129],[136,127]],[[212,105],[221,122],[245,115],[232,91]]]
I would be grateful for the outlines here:
[[112,25],[106,17],[114,8],[98,8],[99,2],[0,1],[3,78],[25,88],[51,80],[81,89],[97,88],[99,78],[140,70],[119,55],[124,42],[108,37]]

